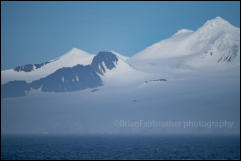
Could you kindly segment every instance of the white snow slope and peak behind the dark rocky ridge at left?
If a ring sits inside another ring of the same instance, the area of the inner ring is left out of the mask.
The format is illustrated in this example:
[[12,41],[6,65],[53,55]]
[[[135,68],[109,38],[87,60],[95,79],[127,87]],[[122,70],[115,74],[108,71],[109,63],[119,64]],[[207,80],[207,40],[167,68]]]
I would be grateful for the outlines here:
[[35,69],[31,72],[17,72],[14,69],[1,71],[1,82],[2,84],[13,80],[25,80],[27,82],[32,82],[46,77],[63,67],[73,67],[77,64],[88,65],[91,63],[94,56],[95,55],[89,54],[83,50],[73,48],[63,56],[60,56],[41,68]]

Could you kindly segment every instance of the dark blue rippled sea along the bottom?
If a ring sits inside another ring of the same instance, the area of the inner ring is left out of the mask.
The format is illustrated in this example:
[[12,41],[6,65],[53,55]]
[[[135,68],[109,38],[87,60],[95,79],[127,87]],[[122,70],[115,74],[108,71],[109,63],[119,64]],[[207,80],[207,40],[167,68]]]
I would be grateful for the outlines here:
[[240,159],[240,137],[2,136],[1,159]]

